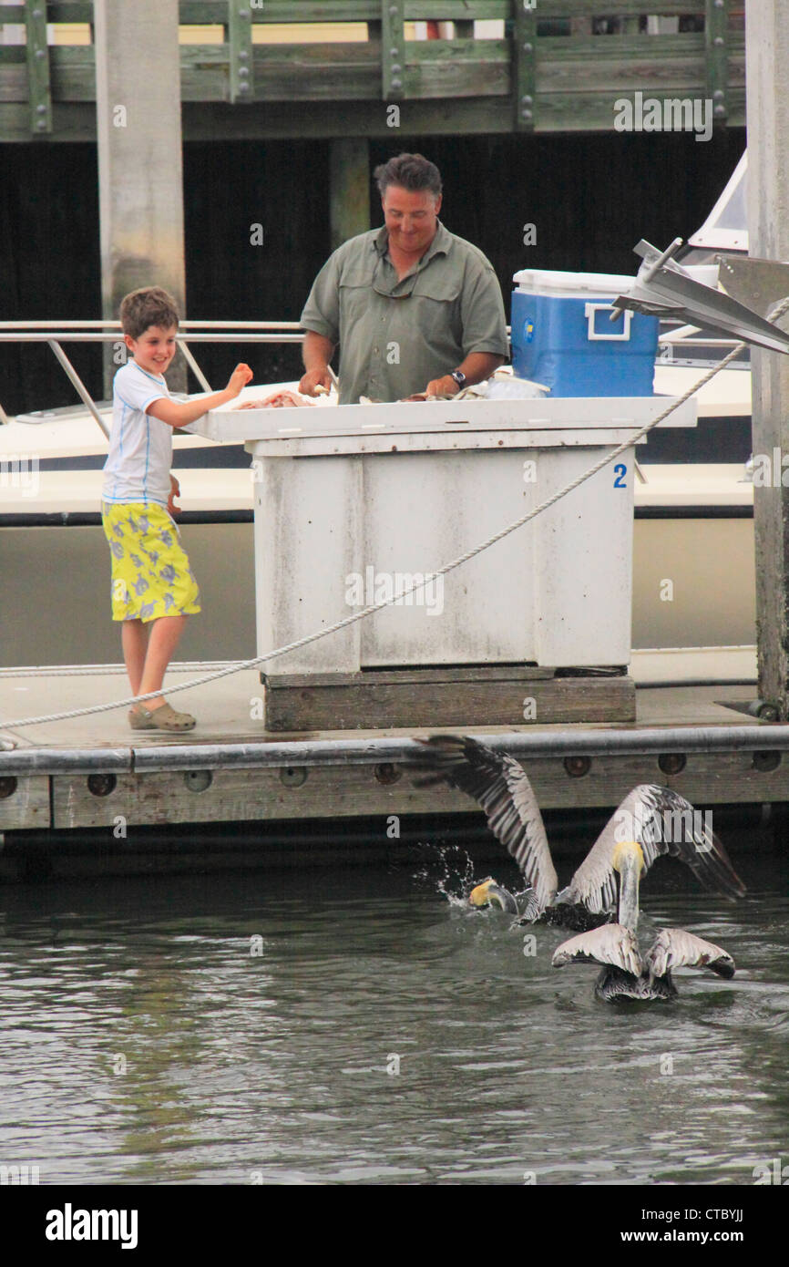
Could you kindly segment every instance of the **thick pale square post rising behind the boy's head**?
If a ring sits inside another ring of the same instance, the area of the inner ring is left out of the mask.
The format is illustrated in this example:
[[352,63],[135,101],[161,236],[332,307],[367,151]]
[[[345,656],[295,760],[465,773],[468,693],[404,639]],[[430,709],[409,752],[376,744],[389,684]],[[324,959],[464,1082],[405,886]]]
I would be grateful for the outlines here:
[[[101,314],[138,286],[163,286],[186,314],[177,0],[94,0]],[[111,345],[105,390],[118,369]],[[167,372],[186,389],[186,366]]]

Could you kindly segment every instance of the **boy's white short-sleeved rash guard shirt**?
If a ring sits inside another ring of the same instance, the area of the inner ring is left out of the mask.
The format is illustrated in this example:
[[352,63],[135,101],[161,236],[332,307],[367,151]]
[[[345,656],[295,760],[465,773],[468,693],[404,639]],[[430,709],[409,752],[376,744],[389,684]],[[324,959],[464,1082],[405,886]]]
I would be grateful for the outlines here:
[[113,383],[113,430],[104,464],[105,502],[158,502],[170,498],[172,427],[146,413],[153,400],[168,399],[163,378],[137,361],[123,365]]

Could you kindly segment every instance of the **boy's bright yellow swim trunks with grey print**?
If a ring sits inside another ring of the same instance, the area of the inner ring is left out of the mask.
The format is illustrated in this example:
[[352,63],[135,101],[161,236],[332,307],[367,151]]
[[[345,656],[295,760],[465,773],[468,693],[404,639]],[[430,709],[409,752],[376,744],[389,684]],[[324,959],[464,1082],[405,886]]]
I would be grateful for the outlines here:
[[156,621],[200,611],[198,583],[163,506],[103,502],[101,522],[113,556],[114,621]]

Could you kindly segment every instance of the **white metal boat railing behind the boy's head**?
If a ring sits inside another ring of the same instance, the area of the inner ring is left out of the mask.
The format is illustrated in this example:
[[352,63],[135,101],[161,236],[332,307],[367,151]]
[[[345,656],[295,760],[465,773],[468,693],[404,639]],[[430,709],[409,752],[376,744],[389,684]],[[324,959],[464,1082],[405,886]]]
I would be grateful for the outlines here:
[[[298,321],[203,321],[185,318],[180,331],[187,332],[189,343],[300,343],[304,328]],[[101,432],[109,438],[109,430],[101,417],[90,392],[82,383],[75,366],[62,348],[63,343],[118,343],[125,346],[122,338],[120,322],[106,321],[0,321],[0,343],[48,343],[57,361],[85,408],[95,418]],[[200,369],[194,352],[180,334],[179,348],[190,370],[204,392],[211,385]],[[0,402],[0,424],[8,423],[9,416]]]

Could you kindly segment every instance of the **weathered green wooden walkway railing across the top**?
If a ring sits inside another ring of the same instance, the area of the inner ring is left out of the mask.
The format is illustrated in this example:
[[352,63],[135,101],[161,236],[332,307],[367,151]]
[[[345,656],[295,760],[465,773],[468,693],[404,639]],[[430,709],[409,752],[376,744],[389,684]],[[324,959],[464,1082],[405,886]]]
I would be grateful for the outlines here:
[[[222,103],[246,118],[239,129],[214,109],[219,137],[385,134],[393,105],[412,132],[608,131],[614,101],[637,91],[710,100],[716,124],[745,122],[745,0],[182,0],[179,11],[222,38],[181,44],[185,136],[199,132],[198,106]],[[455,38],[407,39],[405,24],[424,20],[453,22]],[[503,35],[475,38],[483,20],[503,22]],[[66,137],[72,115],[90,129],[92,47],[47,44],[47,23],[91,22],[86,0],[0,6],[0,23],[27,28],[27,44],[0,44],[0,139]],[[366,38],[331,38],[350,22]],[[255,38],[274,23],[293,25],[293,43]],[[299,42],[299,23],[327,38]]]

